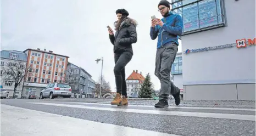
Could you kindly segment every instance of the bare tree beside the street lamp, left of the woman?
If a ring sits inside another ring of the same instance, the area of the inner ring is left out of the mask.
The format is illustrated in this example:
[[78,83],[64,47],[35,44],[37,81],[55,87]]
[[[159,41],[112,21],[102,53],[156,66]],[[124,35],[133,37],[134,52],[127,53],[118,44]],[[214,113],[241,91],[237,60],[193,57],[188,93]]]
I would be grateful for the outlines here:
[[95,87],[95,94],[99,95],[99,91],[101,90],[101,97],[107,93],[111,93],[110,90],[110,83],[105,81],[104,76],[102,75],[102,88],[101,88],[101,76],[99,76],[99,79],[96,83],[96,87]]

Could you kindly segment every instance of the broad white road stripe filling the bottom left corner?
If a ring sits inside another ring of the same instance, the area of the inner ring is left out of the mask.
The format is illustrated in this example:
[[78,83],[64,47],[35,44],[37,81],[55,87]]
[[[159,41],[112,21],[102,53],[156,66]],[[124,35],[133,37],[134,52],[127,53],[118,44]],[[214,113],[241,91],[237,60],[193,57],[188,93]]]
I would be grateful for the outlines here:
[[23,109],[1,104],[1,136],[9,135],[65,135],[65,136],[99,136],[99,135],[146,135],[179,136],[138,128],[118,126],[82,120],[47,112]]

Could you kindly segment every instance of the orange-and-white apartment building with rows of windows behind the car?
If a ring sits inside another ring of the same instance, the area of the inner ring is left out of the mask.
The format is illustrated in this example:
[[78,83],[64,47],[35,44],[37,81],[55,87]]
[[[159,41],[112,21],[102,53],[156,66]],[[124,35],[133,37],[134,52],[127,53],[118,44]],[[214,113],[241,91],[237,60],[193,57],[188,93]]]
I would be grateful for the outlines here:
[[40,95],[40,90],[44,89],[49,83],[62,83],[65,80],[64,71],[68,64],[69,56],[53,53],[46,49],[26,49],[27,64],[31,76],[24,82],[23,95],[29,92]]

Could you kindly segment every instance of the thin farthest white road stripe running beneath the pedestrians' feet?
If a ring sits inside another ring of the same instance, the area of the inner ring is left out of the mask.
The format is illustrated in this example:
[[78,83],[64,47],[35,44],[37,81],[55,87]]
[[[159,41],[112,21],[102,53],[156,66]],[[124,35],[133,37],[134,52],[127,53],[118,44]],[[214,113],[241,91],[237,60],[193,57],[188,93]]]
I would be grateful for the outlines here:
[[[110,105],[101,103],[77,103],[77,102],[65,102],[73,104],[91,104],[91,105]],[[129,107],[154,107],[153,105],[129,105]],[[230,107],[190,107],[190,106],[169,106],[172,109],[201,109],[201,110],[238,110],[238,111],[255,111],[255,109],[243,109],[243,108],[230,108]]]

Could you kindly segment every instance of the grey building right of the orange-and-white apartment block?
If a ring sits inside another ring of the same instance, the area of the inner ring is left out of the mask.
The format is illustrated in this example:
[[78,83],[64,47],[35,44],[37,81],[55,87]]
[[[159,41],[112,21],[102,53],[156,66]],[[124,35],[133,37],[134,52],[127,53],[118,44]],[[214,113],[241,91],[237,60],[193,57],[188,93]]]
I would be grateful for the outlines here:
[[94,98],[96,82],[85,69],[68,62],[65,82],[69,83],[74,95],[85,95],[85,98]]

